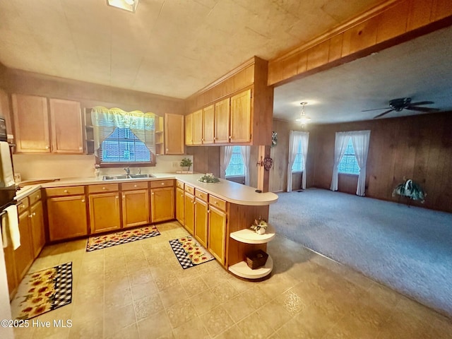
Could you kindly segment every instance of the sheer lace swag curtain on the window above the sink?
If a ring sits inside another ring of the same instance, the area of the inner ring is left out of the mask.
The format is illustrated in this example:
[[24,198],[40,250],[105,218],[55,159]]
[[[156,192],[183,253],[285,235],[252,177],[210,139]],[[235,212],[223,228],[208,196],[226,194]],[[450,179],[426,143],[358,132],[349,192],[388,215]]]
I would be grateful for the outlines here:
[[91,109],[91,119],[94,129],[94,150],[97,156],[102,141],[117,127],[130,129],[155,155],[155,114],[141,111],[125,112],[119,108],[96,106]]

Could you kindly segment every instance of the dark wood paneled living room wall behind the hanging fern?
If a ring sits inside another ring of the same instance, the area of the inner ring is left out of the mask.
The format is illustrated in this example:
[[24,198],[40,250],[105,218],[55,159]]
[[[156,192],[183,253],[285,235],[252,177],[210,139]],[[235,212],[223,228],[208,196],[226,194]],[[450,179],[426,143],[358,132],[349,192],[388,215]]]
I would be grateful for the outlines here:
[[[333,174],[335,132],[371,131],[366,196],[398,201],[393,189],[412,179],[427,192],[415,206],[452,212],[452,112],[316,126],[314,186],[329,189]],[[312,150],[310,150],[311,152]],[[308,173],[308,177],[311,174]],[[355,194],[357,179],[340,175],[338,190]],[[403,202],[403,199],[401,200]]]

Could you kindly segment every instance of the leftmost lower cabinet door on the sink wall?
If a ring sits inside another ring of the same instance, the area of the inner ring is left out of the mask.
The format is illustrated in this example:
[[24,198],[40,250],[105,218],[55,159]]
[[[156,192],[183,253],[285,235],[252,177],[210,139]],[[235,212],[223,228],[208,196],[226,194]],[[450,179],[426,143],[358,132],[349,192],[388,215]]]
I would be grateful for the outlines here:
[[85,196],[48,198],[47,216],[51,242],[88,234]]

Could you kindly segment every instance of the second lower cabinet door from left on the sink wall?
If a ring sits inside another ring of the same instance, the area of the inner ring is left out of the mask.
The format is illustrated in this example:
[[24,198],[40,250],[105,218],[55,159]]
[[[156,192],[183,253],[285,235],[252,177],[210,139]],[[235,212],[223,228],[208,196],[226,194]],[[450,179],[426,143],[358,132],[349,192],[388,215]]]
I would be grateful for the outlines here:
[[90,194],[90,233],[121,228],[119,192]]

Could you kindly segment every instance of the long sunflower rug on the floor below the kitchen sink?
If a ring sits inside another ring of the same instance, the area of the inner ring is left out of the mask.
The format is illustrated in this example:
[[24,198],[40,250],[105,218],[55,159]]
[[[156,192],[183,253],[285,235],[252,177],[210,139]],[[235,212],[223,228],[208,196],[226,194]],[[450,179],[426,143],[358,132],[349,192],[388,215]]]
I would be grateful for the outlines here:
[[126,230],[122,232],[97,235],[95,237],[88,238],[86,251],[89,252],[95,251],[96,249],[105,249],[106,247],[126,244],[127,242],[136,242],[136,240],[156,237],[157,235],[160,235],[160,232],[158,232],[157,227],[153,225],[134,228],[133,230]]

